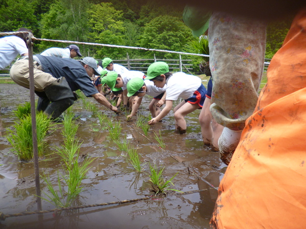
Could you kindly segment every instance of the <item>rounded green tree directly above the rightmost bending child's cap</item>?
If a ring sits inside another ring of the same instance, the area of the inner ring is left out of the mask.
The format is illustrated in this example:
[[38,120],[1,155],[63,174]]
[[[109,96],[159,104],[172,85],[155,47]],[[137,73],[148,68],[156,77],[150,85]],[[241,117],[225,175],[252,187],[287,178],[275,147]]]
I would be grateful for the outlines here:
[[[189,28],[180,18],[162,15],[144,26],[139,44],[144,48],[183,51],[185,44],[192,38]],[[145,52],[152,57],[152,52]],[[178,54],[156,52],[156,57],[178,58]],[[148,56],[149,57],[149,56]]]

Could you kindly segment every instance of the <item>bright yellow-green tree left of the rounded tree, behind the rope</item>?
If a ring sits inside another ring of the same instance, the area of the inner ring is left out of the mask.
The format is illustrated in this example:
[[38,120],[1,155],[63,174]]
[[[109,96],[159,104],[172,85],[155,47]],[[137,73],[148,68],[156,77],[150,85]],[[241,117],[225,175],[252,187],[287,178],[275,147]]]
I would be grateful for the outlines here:
[[[95,43],[125,45],[122,11],[116,10],[111,3],[93,5],[88,11],[88,25],[91,28],[90,38]],[[96,58],[109,56],[119,59],[125,56],[126,50],[122,48],[94,47]]]

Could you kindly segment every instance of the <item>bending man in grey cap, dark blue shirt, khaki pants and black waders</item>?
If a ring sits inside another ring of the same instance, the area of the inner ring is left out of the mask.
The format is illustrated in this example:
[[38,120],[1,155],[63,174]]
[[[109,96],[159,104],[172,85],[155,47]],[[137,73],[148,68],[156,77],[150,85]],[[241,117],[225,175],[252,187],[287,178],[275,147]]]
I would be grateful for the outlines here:
[[[57,119],[73,104],[72,92],[80,89],[85,96],[93,97],[98,103],[118,112],[117,107],[112,106],[91,82],[90,77],[93,74],[99,74],[93,58],[86,57],[81,61],[76,61],[35,55],[33,59],[35,93],[39,97],[38,111],[44,111],[52,119]],[[28,59],[17,61],[10,70],[10,76],[15,83],[29,89]]]

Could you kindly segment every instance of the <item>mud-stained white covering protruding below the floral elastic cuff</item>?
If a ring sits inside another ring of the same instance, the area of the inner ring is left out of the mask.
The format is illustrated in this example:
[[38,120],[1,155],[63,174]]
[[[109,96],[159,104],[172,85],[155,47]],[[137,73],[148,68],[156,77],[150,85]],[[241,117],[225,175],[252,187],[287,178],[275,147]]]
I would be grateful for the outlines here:
[[242,130],[231,130],[224,127],[218,140],[219,153],[221,160],[226,164],[230,164],[232,156],[238,146]]

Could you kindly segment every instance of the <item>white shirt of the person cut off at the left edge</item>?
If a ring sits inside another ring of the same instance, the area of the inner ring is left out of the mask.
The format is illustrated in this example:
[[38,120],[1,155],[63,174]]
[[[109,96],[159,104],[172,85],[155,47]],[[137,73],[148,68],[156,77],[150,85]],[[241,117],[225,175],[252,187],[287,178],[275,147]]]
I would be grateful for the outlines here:
[[18,54],[28,53],[25,42],[16,36],[0,38],[0,70],[9,66]]

